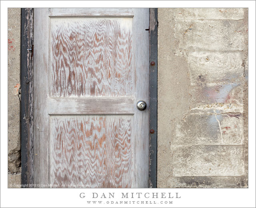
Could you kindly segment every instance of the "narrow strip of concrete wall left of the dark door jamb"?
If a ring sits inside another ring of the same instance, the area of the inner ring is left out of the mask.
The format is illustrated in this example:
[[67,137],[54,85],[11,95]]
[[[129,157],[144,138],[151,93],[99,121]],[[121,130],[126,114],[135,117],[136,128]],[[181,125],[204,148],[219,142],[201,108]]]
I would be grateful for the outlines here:
[[8,187],[20,184],[20,8],[8,8]]

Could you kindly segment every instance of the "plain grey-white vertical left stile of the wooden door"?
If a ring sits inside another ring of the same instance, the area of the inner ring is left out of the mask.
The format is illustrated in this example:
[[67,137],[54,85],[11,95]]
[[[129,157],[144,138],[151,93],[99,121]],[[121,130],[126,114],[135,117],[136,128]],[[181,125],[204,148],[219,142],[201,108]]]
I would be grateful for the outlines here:
[[34,184],[49,184],[49,17],[34,8]]

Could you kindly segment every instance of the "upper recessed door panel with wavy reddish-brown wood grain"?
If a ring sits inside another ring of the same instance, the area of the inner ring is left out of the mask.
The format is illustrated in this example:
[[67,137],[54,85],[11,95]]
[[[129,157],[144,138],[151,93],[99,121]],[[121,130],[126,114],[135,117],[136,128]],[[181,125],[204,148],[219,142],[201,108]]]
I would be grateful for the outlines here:
[[52,18],[50,93],[132,96],[132,18]]

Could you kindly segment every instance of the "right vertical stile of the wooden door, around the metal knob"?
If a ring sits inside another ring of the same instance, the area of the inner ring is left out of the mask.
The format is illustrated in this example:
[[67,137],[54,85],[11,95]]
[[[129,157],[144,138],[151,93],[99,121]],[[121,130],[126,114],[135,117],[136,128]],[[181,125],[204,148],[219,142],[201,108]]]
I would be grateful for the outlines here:
[[[147,17],[147,18],[145,18]],[[149,35],[148,31],[141,31],[141,28],[148,28],[149,9],[134,8],[133,32],[134,33],[134,62],[135,83],[134,98],[135,100],[144,100],[149,103]],[[146,33],[144,33],[146,32]],[[136,187],[148,188],[148,158],[149,158],[149,126],[148,126],[148,108],[144,111],[136,111],[134,114],[134,151],[136,162],[134,180]]]

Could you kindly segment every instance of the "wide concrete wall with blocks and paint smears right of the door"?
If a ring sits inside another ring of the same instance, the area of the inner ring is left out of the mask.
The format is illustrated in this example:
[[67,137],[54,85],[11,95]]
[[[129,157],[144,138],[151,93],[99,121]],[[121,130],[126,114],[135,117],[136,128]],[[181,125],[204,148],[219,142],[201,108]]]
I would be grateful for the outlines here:
[[248,10],[158,22],[158,188],[248,187]]

